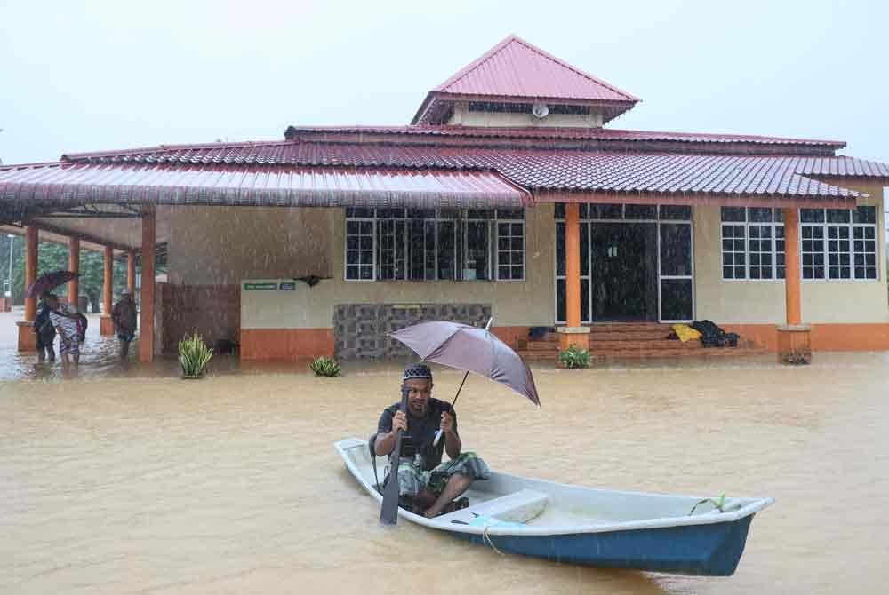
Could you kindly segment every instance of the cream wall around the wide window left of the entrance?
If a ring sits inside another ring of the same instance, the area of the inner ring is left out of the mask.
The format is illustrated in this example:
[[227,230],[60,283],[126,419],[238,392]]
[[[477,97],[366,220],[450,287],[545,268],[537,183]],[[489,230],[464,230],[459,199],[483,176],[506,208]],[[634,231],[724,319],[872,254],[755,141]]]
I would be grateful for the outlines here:
[[552,205],[526,211],[525,281],[347,282],[345,210],[180,208],[172,218],[170,281],[213,285],[244,279],[330,276],[314,288],[241,294],[244,329],[332,326],[336,304],[484,303],[495,326],[549,325],[555,304]]

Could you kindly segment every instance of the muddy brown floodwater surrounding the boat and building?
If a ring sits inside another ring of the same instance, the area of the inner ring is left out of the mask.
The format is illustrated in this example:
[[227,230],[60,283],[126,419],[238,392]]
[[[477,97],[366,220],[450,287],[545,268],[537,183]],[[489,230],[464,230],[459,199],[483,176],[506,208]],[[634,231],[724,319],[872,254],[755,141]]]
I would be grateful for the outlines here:
[[[0,353],[2,593],[886,591],[889,353],[535,368],[539,410],[469,379],[461,436],[497,469],[774,496],[728,578],[559,565],[380,527],[332,444],[375,429],[398,398],[396,365],[323,379],[220,361],[183,381],[174,362],[98,353],[68,377]],[[436,396],[460,380],[438,371]]]

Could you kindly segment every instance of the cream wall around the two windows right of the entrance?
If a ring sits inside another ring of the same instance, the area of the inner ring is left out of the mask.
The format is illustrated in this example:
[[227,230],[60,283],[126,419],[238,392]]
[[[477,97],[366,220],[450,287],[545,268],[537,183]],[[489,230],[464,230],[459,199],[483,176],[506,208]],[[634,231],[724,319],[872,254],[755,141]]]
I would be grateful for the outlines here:
[[[879,279],[876,282],[802,282],[803,321],[889,321],[882,187],[877,184],[856,186],[849,182],[842,186],[870,194],[869,199],[861,200],[859,204],[877,207]],[[717,323],[783,323],[784,282],[723,281],[719,207],[695,207],[693,225],[696,317]]]

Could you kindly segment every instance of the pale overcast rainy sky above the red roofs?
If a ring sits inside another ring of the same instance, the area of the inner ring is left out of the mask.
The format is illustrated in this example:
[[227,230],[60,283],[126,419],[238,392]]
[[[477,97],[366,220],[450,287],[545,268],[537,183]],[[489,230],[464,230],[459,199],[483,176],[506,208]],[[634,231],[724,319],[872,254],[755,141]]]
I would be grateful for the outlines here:
[[0,0],[0,159],[409,123],[509,34],[643,101],[609,128],[889,163],[889,3]]

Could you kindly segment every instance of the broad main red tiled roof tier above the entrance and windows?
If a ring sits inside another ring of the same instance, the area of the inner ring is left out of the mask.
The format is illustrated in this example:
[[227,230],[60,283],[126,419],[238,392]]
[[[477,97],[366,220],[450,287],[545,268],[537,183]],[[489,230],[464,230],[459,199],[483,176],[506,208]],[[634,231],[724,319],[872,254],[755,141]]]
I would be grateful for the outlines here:
[[806,175],[889,179],[889,166],[852,157],[629,153],[581,149],[445,147],[431,144],[284,141],[154,147],[67,155],[81,163],[232,164],[497,171],[535,190],[855,196]]

